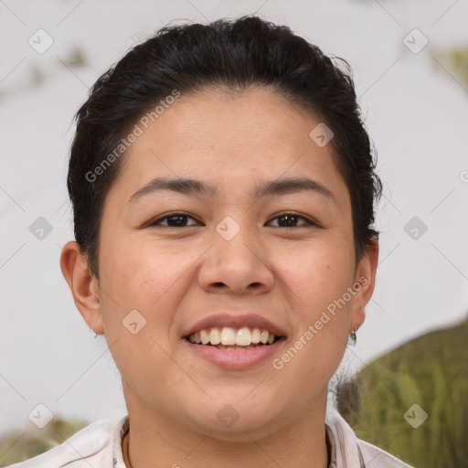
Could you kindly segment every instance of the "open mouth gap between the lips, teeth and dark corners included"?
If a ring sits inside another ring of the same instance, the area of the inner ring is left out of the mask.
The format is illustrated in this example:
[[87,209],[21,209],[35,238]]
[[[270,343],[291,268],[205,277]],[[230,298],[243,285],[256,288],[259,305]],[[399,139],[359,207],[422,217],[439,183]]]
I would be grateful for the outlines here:
[[247,326],[237,329],[230,326],[213,326],[186,336],[186,340],[194,345],[230,350],[248,350],[271,346],[282,338],[285,337],[273,335],[261,328]]

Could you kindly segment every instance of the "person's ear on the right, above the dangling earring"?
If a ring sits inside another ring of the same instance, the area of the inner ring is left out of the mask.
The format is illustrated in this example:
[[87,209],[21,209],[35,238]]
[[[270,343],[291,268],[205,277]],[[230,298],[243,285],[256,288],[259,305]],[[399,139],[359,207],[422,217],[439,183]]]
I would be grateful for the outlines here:
[[362,259],[356,266],[355,284],[360,284],[360,289],[355,296],[355,304],[350,317],[351,330],[359,328],[366,320],[366,305],[374,293],[376,285],[376,271],[378,265],[378,238],[373,236],[367,245]]

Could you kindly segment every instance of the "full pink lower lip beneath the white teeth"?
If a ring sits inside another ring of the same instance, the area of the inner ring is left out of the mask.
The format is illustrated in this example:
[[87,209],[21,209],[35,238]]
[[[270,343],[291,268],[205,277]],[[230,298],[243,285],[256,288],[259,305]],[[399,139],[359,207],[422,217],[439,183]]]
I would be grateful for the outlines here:
[[258,346],[245,350],[219,349],[216,346],[195,345],[186,339],[182,341],[184,341],[186,346],[189,346],[189,349],[196,353],[197,356],[202,357],[215,366],[225,369],[245,369],[257,366],[261,364],[261,362],[271,358],[278,348],[282,346],[284,338],[279,339],[272,345]]

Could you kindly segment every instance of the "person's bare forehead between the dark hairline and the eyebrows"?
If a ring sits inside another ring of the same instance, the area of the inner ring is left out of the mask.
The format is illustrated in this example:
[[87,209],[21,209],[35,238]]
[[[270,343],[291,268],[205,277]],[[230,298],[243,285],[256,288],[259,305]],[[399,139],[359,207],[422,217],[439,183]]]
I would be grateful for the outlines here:
[[332,145],[309,136],[318,118],[270,90],[181,95],[153,122],[141,122],[112,187],[127,200],[157,176],[204,179],[218,196],[282,176],[314,176],[343,191]]

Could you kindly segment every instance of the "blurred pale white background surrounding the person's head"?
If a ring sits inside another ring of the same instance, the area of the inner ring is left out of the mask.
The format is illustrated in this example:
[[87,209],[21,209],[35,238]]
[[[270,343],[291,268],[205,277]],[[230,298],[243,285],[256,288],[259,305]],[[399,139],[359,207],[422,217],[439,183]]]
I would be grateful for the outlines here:
[[[468,46],[466,2],[5,0],[1,431],[24,426],[37,403],[57,415],[89,420],[125,412],[104,338],[94,339],[82,321],[58,266],[60,246],[72,239],[66,191],[71,118],[88,87],[169,21],[206,22],[204,16],[213,20],[258,8],[264,18],[289,25],[325,53],[350,62],[378,149],[385,182],[378,221],[382,261],[358,333],[356,365],[466,315],[468,183],[461,174],[468,174],[468,100],[466,84],[441,61],[442,51]],[[38,28],[54,40],[42,55],[27,42]],[[403,44],[414,28],[429,40],[419,54]],[[76,47],[88,67],[66,69],[60,59]],[[43,80],[34,86],[38,76]],[[29,231],[38,217],[52,227],[43,240]],[[413,217],[428,227],[418,240],[404,230]]]

